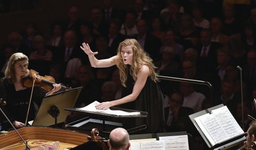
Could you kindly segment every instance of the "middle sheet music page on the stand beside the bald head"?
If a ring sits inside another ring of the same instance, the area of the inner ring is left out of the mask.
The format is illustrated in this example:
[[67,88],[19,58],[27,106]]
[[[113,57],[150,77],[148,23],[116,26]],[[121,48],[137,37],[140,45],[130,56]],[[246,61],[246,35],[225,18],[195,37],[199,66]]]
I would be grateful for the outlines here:
[[141,141],[141,150],[165,150],[164,140]]

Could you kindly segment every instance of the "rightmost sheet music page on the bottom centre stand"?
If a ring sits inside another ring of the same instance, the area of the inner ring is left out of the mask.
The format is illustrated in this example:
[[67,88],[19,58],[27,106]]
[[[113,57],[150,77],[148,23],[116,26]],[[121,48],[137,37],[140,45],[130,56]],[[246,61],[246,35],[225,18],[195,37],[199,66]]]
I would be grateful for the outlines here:
[[159,137],[159,140],[165,141],[166,150],[188,150],[188,135]]

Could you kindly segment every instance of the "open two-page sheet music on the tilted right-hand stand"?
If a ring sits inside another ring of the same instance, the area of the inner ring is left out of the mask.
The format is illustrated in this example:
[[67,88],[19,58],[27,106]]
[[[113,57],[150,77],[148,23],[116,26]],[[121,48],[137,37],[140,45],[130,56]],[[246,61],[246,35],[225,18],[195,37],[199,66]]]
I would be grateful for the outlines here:
[[227,106],[201,115],[195,121],[212,146],[244,133]]

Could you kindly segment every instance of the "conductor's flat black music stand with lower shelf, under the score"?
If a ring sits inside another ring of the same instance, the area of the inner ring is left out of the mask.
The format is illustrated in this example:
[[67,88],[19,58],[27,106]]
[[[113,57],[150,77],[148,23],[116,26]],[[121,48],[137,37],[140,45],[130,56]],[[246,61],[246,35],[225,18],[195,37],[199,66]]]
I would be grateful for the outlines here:
[[128,119],[135,118],[146,118],[148,116],[147,112],[142,111],[134,111],[128,109],[121,109],[117,107],[110,107],[111,110],[120,110],[125,112],[140,112],[140,115],[113,115],[113,114],[104,114],[90,111],[78,110],[76,108],[65,109],[66,111],[82,113],[88,115],[88,117],[83,118],[81,120],[77,120],[75,122],[66,124],[66,128],[72,130],[79,130],[89,132],[92,128],[97,128],[103,135],[109,135],[110,132],[118,127],[125,128],[127,132],[130,134],[132,132],[136,132],[139,130],[146,129],[146,125],[142,126],[134,126],[134,127],[125,127],[123,126],[123,121]]

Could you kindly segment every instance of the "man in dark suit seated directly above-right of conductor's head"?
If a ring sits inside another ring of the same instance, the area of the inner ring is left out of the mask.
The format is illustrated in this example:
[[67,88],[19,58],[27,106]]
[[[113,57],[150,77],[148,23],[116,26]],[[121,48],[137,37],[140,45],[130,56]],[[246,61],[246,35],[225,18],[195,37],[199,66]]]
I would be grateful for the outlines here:
[[137,39],[141,47],[149,53],[153,61],[156,61],[161,47],[161,40],[148,32],[148,26],[145,20],[138,20],[136,26],[138,35],[134,38]]

